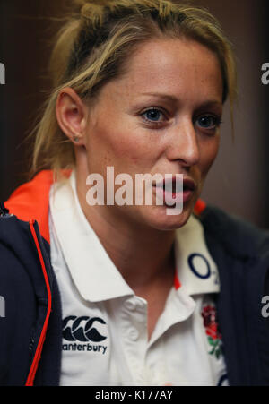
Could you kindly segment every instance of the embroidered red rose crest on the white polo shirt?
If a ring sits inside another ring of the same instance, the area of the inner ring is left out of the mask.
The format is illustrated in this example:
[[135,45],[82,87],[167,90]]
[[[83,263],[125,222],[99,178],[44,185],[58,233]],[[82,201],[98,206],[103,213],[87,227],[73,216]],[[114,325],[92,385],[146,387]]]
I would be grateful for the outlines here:
[[218,331],[218,323],[216,322],[216,308],[213,305],[205,305],[202,311],[202,317],[204,319],[207,340],[211,347],[209,354],[219,359],[222,355],[222,337],[221,333]]

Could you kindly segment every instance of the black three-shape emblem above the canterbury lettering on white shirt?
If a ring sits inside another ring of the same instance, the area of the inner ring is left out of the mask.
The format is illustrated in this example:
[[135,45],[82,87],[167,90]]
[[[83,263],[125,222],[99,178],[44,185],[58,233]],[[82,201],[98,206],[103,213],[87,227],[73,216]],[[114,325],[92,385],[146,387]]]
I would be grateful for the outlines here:
[[94,322],[106,324],[100,317],[76,317],[70,315],[63,320],[63,337],[67,341],[79,340],[81,342],[100,342],[106,340],[100,332],[93,327]]

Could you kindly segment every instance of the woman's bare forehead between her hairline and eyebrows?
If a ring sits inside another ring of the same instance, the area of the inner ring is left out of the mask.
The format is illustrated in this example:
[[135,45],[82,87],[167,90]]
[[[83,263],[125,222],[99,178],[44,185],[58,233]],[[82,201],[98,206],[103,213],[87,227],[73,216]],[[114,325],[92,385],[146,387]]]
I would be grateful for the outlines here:
[[217,56],[189,39],[156,39],[143,43],[129,58],[118,91],[160,92],[173,97],[222,99],[221,67]]

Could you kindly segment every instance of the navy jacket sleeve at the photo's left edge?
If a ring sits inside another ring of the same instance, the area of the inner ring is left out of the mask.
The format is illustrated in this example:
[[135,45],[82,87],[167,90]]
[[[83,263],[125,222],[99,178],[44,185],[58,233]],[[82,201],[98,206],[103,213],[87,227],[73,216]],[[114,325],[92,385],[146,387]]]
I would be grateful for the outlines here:
[[0,242],[0,385],[24,385],[26,381],[35,307],[27,269],[12,249]]

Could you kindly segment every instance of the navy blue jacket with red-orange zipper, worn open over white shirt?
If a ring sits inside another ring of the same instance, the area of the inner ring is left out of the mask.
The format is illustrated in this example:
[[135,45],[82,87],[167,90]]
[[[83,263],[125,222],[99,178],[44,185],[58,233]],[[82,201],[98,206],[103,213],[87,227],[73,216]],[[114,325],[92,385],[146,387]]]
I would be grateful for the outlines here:
[[[0,211],[0,385],[58,385],[62,315],[39,224]],[[200,215],[217,263],[218,322],[230,385],[269,385],[269,232],[207,206]],[[51,305],[51,308],[50,308]],[[1,312],[0,312],[1,313]]]

